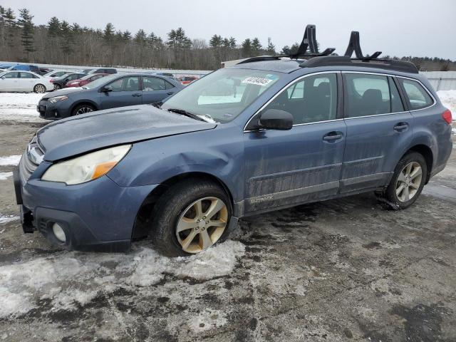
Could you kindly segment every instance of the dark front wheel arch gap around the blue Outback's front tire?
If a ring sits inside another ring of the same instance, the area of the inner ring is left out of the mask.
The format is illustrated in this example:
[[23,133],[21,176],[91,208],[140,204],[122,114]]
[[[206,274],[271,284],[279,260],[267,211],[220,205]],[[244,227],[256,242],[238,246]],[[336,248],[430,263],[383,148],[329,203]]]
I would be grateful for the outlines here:
[[152,221],[150,214],[152,213],[152,210],[154,209],[154,206],[157,203],[158,199],[163,194],[165,194],[165,192],[173,185],[176,185],[179,182],[187,180],[195,180],[195,182],[197,182],[198,180],[204,180],[206,182],[211,181],[214,182],[214,184],[221,187],[229,197],[229,203],[227,204],[229,204],[231,212],[234,214],[234,200],[232,197],[232,192],[229,190],[229,187],[227,187],[227,185],[222,180],[207,172],[186,172],[180,175],[170,177],[169,179],[165,180],[165,182],[161,182],[160,185],[155,187],[155,189],[152,190],[152,192],[150,192],[149,195],[147,195],[145,200],[142,202],[141,207],[138,210],[138,213],[136,214],[135,224],[133,226],[132,232],[132,239],[140,239],[142,237],[147,236],[147,233],[150,229],[150,222]]

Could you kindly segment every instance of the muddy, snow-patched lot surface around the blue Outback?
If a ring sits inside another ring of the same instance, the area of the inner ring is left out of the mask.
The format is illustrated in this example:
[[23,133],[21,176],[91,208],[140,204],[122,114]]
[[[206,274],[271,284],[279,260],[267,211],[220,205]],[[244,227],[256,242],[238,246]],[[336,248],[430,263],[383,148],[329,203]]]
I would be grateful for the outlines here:
[[[40,125],[0,122],[0,156]],[[23,234],[7,177],[0,341],[456,341],[455,153],[425,190],[400,212],[366,194],[251,217],[176,260],[147,241],[93,254]]]

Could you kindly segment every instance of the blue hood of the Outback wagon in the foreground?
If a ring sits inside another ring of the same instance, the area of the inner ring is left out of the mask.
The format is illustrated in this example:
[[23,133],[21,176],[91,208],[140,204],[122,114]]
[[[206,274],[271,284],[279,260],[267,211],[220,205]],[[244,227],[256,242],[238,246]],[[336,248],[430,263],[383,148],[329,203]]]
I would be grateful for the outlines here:
[[100,110],[56,121],[36,133],[44,160],[80,155],[103,147],[211,130],[217,125],[170,113],[152,105]]

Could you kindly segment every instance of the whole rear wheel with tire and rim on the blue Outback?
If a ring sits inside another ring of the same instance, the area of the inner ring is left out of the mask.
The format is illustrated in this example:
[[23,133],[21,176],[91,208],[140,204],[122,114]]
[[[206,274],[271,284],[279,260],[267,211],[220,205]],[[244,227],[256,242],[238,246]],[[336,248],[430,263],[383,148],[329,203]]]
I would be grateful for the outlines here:
[[426,176],[427,164],[423,155],[408,152],[396,165],[386,190],[375,195],[391,209],[406,209],[420,196]]

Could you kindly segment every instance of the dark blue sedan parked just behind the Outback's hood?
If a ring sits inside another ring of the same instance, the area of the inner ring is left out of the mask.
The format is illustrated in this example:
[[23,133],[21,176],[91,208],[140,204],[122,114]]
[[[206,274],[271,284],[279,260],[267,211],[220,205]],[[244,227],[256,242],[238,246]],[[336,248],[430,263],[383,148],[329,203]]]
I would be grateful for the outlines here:
[[58,120],[93,110],[157,103],[184,88],[165,76],[143,73],[109,75],[83,88],[57,90],[38,103],[41,118]]

